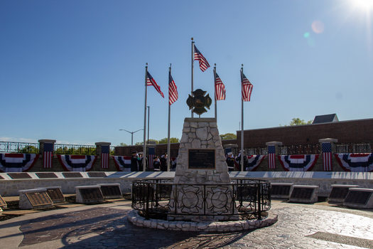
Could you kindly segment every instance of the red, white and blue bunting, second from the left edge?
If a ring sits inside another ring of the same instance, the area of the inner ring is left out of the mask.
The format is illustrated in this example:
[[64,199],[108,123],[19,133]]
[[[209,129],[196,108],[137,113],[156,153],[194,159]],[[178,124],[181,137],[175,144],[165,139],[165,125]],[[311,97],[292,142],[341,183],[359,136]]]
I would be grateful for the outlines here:
[[96,156],[57,155],[63,168],[67,171],[90,171]]

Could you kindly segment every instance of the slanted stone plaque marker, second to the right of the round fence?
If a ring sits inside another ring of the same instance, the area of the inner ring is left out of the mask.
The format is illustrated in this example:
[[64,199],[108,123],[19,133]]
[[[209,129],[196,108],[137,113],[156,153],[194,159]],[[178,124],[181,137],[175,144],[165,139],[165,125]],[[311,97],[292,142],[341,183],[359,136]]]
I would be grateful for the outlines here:
[[318,201],[318,186],[293,185],[293,191],[289,198],[290,202],[315,203]]

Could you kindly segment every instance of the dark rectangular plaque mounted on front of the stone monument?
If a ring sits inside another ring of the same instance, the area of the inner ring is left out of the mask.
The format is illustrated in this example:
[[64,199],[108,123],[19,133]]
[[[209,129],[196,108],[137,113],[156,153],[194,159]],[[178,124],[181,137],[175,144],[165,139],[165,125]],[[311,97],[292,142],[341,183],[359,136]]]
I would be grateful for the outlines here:
[[215,169],[215,149],[189,149],[188,169]]

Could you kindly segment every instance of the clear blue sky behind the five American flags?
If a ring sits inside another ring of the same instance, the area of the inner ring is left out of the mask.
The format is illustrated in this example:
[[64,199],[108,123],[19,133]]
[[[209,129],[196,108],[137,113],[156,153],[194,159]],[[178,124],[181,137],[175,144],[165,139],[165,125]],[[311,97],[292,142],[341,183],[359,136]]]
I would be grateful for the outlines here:
[[[2,0],[0,140],[130,144],[119,129],[144,127],[145,63],[165,94],[148,88],[150,138],[167,137],[169,63],[179,92],[171,137],[180,138],[191,37],[225,83],[221,134],[239,129],[242,63],[254,85],[244,129],[372,118],[373,11],[356,1]],[[213,96],[212,67],[194,65],[195,89]]]

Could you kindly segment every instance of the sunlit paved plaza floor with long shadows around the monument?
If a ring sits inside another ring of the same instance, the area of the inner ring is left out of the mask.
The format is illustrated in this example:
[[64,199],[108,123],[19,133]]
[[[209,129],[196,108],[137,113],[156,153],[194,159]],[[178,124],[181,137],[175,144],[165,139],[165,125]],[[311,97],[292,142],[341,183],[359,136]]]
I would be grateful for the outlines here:
[[373,211],[328,203],[272,201],[277,223],[234,233],[138,228],[130,201],[62,207],[1,221],[0,248],[373,248]]

